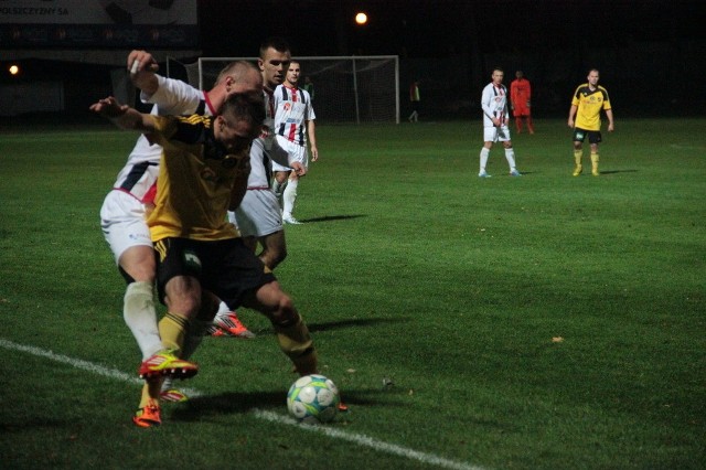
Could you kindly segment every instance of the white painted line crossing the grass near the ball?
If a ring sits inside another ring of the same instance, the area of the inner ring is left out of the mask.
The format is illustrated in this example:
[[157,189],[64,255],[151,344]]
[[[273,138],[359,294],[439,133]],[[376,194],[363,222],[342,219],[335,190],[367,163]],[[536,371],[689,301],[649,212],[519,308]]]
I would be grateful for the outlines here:
[[[136,384],[136,385],[143,384],[143,381],[136,377],[133,374],[126,374],[125,372],[116,371],[115,368],[104,367],[101,365],[94,364],[93,362],[69,357],[67,355],[57,354],[52,351],[43,350],[35,346],[19,344],[2,338],[0,338],[0,346],[8,350],[20,351],[20,352],[36,355],[40,357],[45,357],[54,362],[67,364],[67,365],[71,365],[72,367],[87,371],[93,374],[103,375],[104,377],[115,378],[120,382],[126,382],[126,383]],[[192,388],[180,387],[180,389],[184,391],[184,393],[186,393],[186,395],[190,395],[190,396],[204,395],[202,392],[199,392]],[[342,431],[340,429],[328,427],[328,426],[302,425],[297,423],[295,419],[290,417],[282,416],[272,412],[254,409],[253,415],[258,419],[264,419],[264,420],[276,423],[279,425],[293,426],[301,430],[321,434],[321,435],[331,437],[333,439],[345,440],[349,442],[356,444],[359,446],[368,447],[373,450],[377,450],[381,452],[392,453],[392,455],[404,457],[410,460],[416,460],[421,463],[428,463],[428,464],[438,466],[447,469],[454,469],[454,470],[484,470],[483,467],[478,467],[478,466],[472,466],[464,462],[458,462],[454,460],[445,459],[442,457],[438,457],[431,453],[419,452],[417,450],[408,449],[406,447],[397,446],[395,444],[383,442],[361,434],[346,432],[346,431]]]

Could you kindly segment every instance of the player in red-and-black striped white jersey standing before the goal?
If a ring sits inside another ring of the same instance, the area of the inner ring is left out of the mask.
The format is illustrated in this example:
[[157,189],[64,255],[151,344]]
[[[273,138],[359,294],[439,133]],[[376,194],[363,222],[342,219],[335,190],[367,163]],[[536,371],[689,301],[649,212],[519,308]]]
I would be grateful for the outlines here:
[[[275,133],[280,147],[293,154],[304,168],[309,169],[307,141],[311,146],[311,161],[319,159],[314,120],[317,115],[311,105],[311,96],[306,89],[298,88],[301,67],[299,62],[291,61],[285,82],[275,89]],[[299,175],[291,168],[272,163],[275,180],[272,189],[277,197],[282,200],[282,222],[300,224],[292,216],[297,201]]]

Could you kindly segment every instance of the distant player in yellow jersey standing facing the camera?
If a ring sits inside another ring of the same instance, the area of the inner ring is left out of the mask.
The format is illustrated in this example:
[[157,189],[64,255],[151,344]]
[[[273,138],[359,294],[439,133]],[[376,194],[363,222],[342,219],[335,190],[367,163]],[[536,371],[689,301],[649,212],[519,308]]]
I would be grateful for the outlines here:
[[[613,111],[610,107],[608,92],[598,85],[599,77],[599,72],[596,68],[591,68],[588,72],[588,82],[579,85],[571,98],[568,125],[574,129],[575,177],[580,175],[584,171],[581,160],[584,159],[584,140],[586,140],[587,137],[591,148],[591,174],[593,177],[600,175],[598,171],[598,162],[600,160],[598,157],[598,145],[602,140],[600,135],[601,109],[606,111],[606,117],[608,118],[608,131],[612,132],[614,129]],[[576,120],[574,120],[575,117]]]

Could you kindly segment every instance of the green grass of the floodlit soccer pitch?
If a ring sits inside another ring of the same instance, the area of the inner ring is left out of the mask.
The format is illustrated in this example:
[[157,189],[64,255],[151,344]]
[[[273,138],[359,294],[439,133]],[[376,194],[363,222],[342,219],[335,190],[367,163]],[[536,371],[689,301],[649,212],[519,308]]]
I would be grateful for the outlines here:
[[[277,274],[351,408],[329,428],[484,468],[703,468],[706,120],[617,124],[599,178],[573,178],[570,130],[539,120],[514,136],[525,175],[496,146],[488,180],[480,122],[319,126]],[[137,374],[98,225],[135,138],[0,133],[0,339]],[[184,383],[203,395],[159,429],[130,421],[137,382],[3,348],[1,460],[435,467],[258,418],[296,377],[240,317],[258,338],[206,339]]]

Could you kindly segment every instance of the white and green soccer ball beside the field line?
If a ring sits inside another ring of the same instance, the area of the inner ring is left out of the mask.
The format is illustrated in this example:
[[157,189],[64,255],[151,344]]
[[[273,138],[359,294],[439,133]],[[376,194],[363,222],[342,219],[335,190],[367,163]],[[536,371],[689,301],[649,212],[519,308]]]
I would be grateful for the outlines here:
[[329,423],[339,410],[339,388],[323,375],[299,377],[287,394],[287,409],[297,420],[307,424]]

